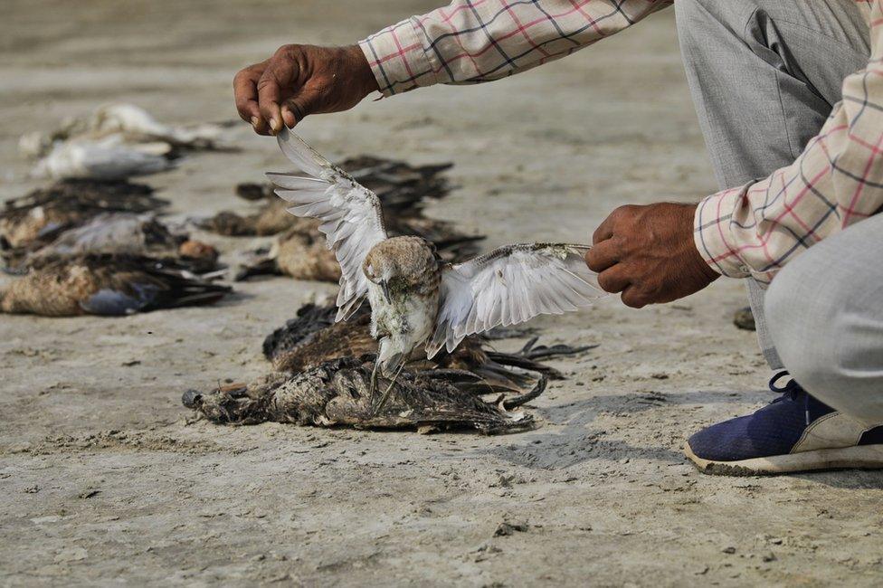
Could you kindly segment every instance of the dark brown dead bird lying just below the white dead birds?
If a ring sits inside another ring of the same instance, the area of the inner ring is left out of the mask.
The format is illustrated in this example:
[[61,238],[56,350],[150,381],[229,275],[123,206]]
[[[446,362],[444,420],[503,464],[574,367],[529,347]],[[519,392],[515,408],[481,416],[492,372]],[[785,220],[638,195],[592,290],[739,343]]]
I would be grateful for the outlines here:
[[159,213],[168,202],[148,185],[69,179],[7,200],[0,209],[0,243],[22,247],[52,241],[65,229],[101,213]]

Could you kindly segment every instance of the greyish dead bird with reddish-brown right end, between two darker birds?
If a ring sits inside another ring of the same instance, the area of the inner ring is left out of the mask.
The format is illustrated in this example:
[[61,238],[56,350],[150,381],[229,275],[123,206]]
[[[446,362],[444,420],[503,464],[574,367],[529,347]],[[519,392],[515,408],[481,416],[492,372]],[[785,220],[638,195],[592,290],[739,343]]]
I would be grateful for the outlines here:
[[174,232],[152,214],[100,213],[89,222],[62,231],[51,242],[37,240],[27,246],[0,252],[5,270],[21,273],[44,264],[86,253],[115,253],[155,258],[181,258],[195,273],[217,269],[218,251],[211,245],[191,240],[185,232]]

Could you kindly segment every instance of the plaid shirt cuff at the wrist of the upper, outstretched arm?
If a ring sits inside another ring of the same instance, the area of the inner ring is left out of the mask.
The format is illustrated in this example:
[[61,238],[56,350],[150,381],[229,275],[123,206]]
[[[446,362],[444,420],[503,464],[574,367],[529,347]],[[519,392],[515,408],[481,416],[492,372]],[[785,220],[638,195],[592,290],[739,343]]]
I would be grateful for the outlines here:
[[386,97],[438,83],[411,19],[371,35],[359,47]]

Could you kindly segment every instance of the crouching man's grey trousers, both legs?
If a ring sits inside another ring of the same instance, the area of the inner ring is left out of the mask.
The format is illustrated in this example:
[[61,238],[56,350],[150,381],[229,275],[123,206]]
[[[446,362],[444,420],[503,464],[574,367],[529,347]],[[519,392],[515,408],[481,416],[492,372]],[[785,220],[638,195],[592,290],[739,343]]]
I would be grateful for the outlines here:
[[[676,0],[684,64],[720,187],[787,166],[868,62],[853,0]],[[764,292],[748,281],[774,369],[813,396],[883,422],[883,215],[803,253]]]

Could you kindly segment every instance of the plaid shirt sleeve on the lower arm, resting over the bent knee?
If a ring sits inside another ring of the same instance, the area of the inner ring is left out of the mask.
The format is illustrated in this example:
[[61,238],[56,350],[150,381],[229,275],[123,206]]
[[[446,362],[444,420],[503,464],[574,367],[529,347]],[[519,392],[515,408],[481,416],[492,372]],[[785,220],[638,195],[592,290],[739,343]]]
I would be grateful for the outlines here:
[[842,100],[792,165],[698,205],[696,246],[718,272],[768,283],[883,207],[883,0],[873,3],[870,34],[868,67],[843,81]]

